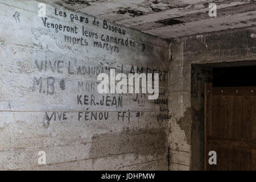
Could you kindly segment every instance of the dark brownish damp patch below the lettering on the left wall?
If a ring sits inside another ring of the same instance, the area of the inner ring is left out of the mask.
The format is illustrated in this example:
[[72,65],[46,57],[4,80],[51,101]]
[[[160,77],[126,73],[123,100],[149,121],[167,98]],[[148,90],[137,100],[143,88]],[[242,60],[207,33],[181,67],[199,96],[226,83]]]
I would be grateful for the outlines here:
[[163,156],[167,132],[164,129],[124,130],[116,133],[94,134],[90,158],[129,154]]

